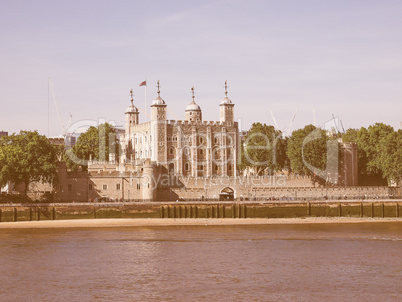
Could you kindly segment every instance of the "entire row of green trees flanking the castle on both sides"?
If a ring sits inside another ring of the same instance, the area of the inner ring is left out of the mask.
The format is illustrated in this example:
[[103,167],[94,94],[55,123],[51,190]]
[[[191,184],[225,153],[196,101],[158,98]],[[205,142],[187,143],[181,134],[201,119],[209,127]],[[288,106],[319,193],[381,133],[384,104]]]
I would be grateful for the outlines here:
[[[385,184],[402,180],[402,130],[376,123],[368,128],[348,129],[345,133],[327,135],[313,125],[284,136],[273,126],[254,123],[240,145],[238,169],[250,169],[257,175],[287,170],[309,176],[313,182],[328,183],[328,165],[337,162],[343,142],[357,146],[359,179],[382,179]],[[328,152],[332,147],[335,152]],[[25,193],[31,182],[52,183],[58,162],[65,161],[70,170],[86,170],[87,161],[108,160],[109,153],[118,155],[119,143],[109,124],[90,127],[68,150],[52,145],[37,131],[0,138],[0,187],[9,182],[24,184]],[[74,156],[80,161],[72,160]],[[336,163],[335,163],[336,165]]]

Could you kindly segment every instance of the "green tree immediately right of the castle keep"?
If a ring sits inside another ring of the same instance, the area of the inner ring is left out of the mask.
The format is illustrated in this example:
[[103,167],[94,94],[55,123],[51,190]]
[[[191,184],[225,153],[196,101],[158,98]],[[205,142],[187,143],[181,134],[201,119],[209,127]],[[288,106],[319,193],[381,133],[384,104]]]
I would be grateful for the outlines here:
[[252,167],[258,175],[282,170],[286,164],[286,139],[273,126],[254,123],[241,147],[241,168]]

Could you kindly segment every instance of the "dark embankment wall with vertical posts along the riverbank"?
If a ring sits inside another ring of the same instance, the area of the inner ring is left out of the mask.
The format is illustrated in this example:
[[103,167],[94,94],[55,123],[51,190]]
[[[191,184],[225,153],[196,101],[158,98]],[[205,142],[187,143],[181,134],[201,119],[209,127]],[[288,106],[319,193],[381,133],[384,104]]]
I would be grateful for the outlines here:
[[402,201],[0,205],[0,222],[99,218],[400,218]]

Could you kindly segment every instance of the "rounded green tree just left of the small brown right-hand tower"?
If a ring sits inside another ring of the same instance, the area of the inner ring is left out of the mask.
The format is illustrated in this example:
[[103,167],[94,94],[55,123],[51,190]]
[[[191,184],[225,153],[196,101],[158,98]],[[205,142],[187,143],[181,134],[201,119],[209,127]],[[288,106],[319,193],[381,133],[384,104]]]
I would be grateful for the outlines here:
[[[324,171],[327,168],[327,142],[329,141],[325,130],[313,125],[307,125],[303,129],[293,131],[287,148],[292,171],[309,176],[314,184],[316,182],[325,184],[327,176],[320,175],[317,171]],[[336,140],[334,142],[336,143]],[[337,165],[338,152],[330,153],[332,157],[328,163]]]

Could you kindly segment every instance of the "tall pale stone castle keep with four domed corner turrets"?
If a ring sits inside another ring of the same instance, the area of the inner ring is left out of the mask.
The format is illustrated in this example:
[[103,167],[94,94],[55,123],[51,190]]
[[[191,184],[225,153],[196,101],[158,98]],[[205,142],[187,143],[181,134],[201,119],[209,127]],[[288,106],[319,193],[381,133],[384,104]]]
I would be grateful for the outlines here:
[[[151,121],[139,123],[139,111],[133,104],[125,112],[125,133],[120,136],[118,171],[136,170],[144,161],[157,163],[169,175],[191,177],[237,176],[238,124],[234,104],[225,97],[219,104],[220,121],[203,121],[201,107],[192,100],[185,119],[167,120],[167,104],[158,96],[151,105]],[[92,167],[90,167],[91,169]]]

